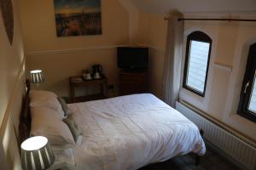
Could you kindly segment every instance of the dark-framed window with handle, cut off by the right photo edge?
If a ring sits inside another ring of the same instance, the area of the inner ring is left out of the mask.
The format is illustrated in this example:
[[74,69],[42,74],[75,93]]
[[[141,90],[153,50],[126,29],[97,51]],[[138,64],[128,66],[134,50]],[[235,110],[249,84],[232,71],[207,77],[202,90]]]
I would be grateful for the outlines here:
[[249,49],[247,68],[241,85],[238,114],[256,122],[256,43]]

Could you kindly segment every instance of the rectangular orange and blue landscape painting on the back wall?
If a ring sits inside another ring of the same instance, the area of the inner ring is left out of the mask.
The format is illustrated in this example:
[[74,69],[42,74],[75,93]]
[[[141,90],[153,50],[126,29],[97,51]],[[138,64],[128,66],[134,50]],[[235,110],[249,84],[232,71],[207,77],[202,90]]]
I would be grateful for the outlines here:
[[101,0],[54,0],[57,37],[101,35]]

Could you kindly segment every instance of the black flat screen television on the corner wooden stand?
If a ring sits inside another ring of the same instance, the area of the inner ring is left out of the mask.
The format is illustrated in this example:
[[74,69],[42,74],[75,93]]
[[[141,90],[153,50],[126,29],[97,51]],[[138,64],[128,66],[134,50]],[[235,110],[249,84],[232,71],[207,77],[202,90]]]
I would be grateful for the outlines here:
[[142,70],[148,68],[148,48],[117,48],[118,67],[124,70]]

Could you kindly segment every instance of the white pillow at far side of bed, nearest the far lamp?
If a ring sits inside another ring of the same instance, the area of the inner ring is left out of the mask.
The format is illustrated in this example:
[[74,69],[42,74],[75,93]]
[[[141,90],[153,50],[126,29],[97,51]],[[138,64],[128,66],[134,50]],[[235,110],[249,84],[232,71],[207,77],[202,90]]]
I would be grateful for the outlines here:
[[43,90],[32,90],[30,92],[30,107],[44,107],[58,111],[64,118],[64,111],[57,99],[57,95]]

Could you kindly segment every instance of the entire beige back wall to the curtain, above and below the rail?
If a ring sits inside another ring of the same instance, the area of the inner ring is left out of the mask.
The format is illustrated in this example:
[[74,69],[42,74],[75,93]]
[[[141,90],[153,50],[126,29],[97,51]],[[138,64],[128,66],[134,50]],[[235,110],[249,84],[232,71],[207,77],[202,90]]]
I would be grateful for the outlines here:
[[108,83],[114,85],[118,94],[115,47],[137,44],[150,48],[150,91],[161,97],[166,45],[164,15],[140,13],[125,0],[106,0],[102,1],[101,36],[56,37],[53,1],[22,0],[20,11],[27,54],[26,75],[32,69],[44,70],[46,81],[41,88],[67,96],[68,77],[81,74],[81,70],[93,64],[102,64]]

